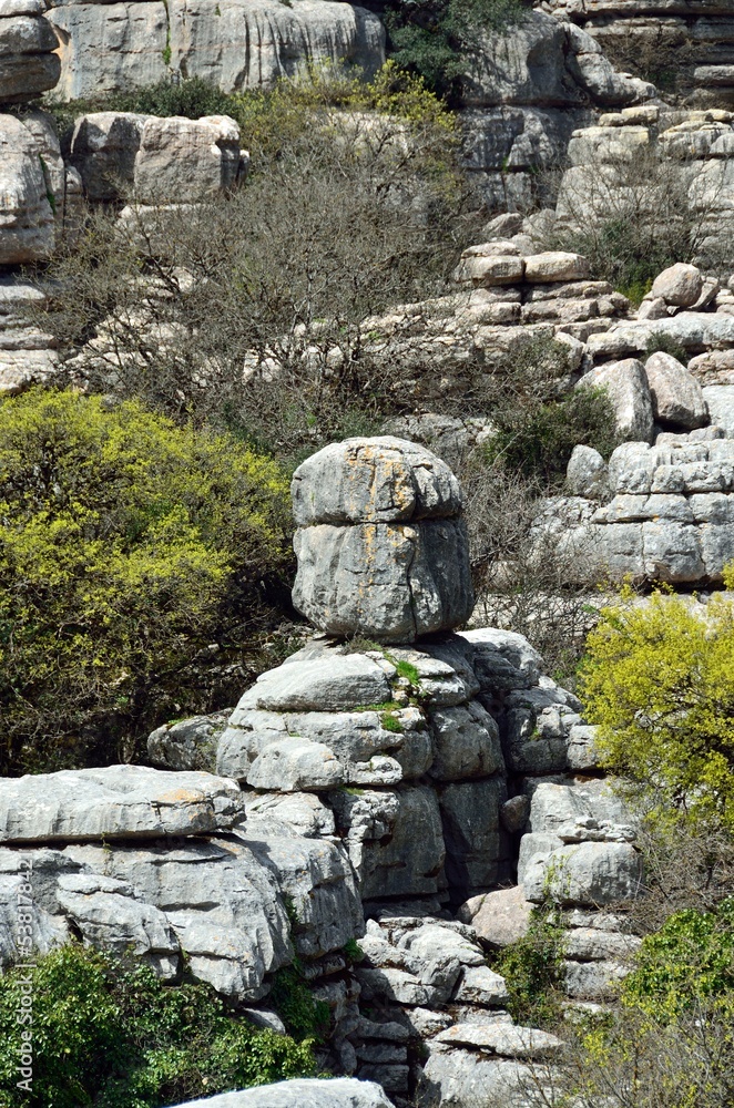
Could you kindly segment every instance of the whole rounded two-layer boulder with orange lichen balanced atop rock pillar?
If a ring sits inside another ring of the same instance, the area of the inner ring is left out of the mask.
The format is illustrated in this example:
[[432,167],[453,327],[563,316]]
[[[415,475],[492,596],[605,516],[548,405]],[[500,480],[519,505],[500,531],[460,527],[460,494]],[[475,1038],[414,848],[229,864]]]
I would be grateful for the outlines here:
[[293,479],[295,607],[330,635],[387,643],[450,630],[471,614],[461,490],[448,465],[401,439],[348,439]]

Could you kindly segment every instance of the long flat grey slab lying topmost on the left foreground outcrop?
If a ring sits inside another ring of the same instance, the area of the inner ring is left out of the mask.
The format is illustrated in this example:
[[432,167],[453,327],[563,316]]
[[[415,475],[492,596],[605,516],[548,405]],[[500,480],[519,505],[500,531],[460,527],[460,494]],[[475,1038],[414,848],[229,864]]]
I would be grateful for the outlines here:
[[0,780],[0,841],[190,835],[244,819],[234,781],[144,766],[61,770]]

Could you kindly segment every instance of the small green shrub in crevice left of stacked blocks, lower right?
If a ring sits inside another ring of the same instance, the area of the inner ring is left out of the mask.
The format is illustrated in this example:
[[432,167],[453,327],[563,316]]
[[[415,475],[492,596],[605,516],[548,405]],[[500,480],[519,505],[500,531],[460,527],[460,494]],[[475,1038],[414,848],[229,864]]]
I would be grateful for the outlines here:
[[564,933],[551,913],[533,913],[527,935],[506,946],[492,968],[507,982],[507,1008],[514,1020],[551,1027],[559,1018]]

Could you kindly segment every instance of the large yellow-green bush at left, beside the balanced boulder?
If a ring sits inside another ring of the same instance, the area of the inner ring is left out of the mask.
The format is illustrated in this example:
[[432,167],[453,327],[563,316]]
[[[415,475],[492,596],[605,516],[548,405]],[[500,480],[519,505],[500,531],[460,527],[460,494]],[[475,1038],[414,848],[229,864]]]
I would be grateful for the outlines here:
[[115,760],[201,710],[201,652],[289,567],[277,465],[135,401],[3,400],[0,517],[3,773]]

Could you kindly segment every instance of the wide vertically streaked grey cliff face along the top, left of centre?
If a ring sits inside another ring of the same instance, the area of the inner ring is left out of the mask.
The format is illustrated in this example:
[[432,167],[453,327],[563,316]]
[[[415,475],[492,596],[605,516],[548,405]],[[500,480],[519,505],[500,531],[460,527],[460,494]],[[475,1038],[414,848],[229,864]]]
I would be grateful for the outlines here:
[[309,66],[346,62],[374,74],[385,30],[371,12],[328,0],[161,0],[70,3],[49,19],[60,32],[64,100],[139,89],[176,73],[223,92],[271,88]]

